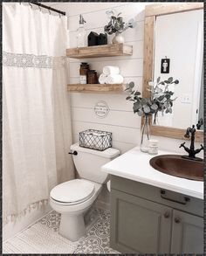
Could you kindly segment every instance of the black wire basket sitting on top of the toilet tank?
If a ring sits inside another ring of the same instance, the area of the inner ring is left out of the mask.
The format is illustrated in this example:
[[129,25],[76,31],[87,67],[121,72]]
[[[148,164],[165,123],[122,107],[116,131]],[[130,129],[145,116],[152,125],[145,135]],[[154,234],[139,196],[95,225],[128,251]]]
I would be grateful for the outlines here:
[[112,133],[94,129],[80,132],[79,146],[100,151],[112,148]]

